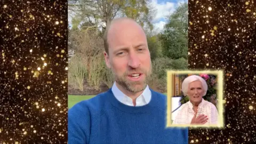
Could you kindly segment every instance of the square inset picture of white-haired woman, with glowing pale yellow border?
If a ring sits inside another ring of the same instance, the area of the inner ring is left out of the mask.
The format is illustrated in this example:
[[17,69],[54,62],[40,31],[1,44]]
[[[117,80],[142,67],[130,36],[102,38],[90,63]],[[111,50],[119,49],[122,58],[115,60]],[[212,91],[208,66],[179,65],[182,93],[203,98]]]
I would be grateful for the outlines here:
[[167,127],[223,127],[223,73],[167,71]]

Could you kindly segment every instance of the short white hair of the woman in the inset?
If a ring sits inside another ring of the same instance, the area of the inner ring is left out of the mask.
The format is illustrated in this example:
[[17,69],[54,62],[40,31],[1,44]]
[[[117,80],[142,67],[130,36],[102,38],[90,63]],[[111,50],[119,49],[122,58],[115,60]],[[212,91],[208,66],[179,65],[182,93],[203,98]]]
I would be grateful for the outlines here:
[[197,75],[191,75],[191,76],[188,76],[184,79],[184,81],[182,82],[182,85],[181,85],[182,92],[185,95],[187,95],[189,84],[191,82],[195,82],[195,81],[201,82],[201,84],[203,86],[203,90],[204,90],[203,96],[206,95],[208,85],[207,85],[206,81],[204,80],[204,78],[202,78],[201,76],[197,76]]

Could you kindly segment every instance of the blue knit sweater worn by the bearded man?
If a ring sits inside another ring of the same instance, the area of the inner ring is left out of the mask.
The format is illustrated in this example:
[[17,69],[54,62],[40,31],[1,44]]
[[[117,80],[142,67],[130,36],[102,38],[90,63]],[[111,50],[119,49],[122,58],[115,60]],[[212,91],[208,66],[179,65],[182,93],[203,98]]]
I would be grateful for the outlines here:
[[119,102],[111,89],[68,111],[68,143],[188,143],[187,128],[166,128],[166,96],[151,90],[148,105]]

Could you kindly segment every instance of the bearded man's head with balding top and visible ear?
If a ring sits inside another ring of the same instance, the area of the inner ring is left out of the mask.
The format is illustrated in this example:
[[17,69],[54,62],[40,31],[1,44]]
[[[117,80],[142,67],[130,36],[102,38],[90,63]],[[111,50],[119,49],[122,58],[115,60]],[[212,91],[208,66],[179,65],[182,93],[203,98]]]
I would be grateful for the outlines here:
[[151,74],[151,60],[143,30],[133,22],[114,23],[109,30],[107,66],[115,81],[124,89],[137,93],[147,86]]

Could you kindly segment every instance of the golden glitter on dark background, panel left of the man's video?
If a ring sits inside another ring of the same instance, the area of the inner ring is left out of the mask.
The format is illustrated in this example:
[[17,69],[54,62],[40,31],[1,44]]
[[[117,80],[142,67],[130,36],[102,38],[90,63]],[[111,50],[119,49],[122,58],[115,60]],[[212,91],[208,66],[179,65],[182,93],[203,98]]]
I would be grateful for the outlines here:
[[67,1],[0,1],[0,21],[0,143],[67,143]]

